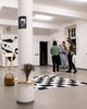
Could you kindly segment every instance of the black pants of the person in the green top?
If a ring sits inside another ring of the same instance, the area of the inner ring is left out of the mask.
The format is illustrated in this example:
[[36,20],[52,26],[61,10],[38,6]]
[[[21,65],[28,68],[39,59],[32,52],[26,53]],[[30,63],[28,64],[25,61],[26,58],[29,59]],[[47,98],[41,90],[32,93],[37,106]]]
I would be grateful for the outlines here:
[[52,56],[53,72],[59,71],[60,56]]

